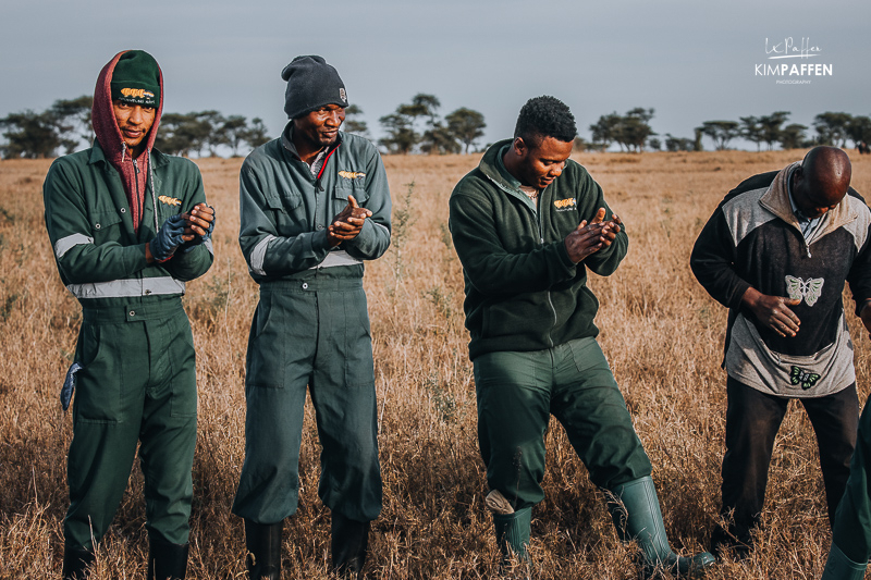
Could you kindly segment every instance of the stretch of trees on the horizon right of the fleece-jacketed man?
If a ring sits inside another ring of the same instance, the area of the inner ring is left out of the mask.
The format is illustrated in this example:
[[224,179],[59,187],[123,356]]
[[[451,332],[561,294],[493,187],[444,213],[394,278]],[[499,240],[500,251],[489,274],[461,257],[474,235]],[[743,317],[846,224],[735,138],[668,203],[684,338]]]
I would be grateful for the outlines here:
[[741,116],[738,121],[704,121],[695,128],[694,137],[675,137],[666,133],[664,139],[650,126],[653,109],[636,108],[626,114],[616,112],[602,115],[590,125],[592,141],[577,140],[577,147],[589,150],[605,150],[613,144],[624,151],[643,151],[646,148],[668,151],[701,151],[703,138],[708,137],[714,149],[722,151],[729,144],[744,138],[756,144],[757,151],[765,144],[771,151],[775,145],[783,149],[799,149],[817,145],[845,147],[848,140],[860,152],[868,152],[871,143],[871,118],[849,113],[825,112],[813,118],[815,135],[809,135],[806,125],[786,124],[789,111],[776,111],[769,115]]

